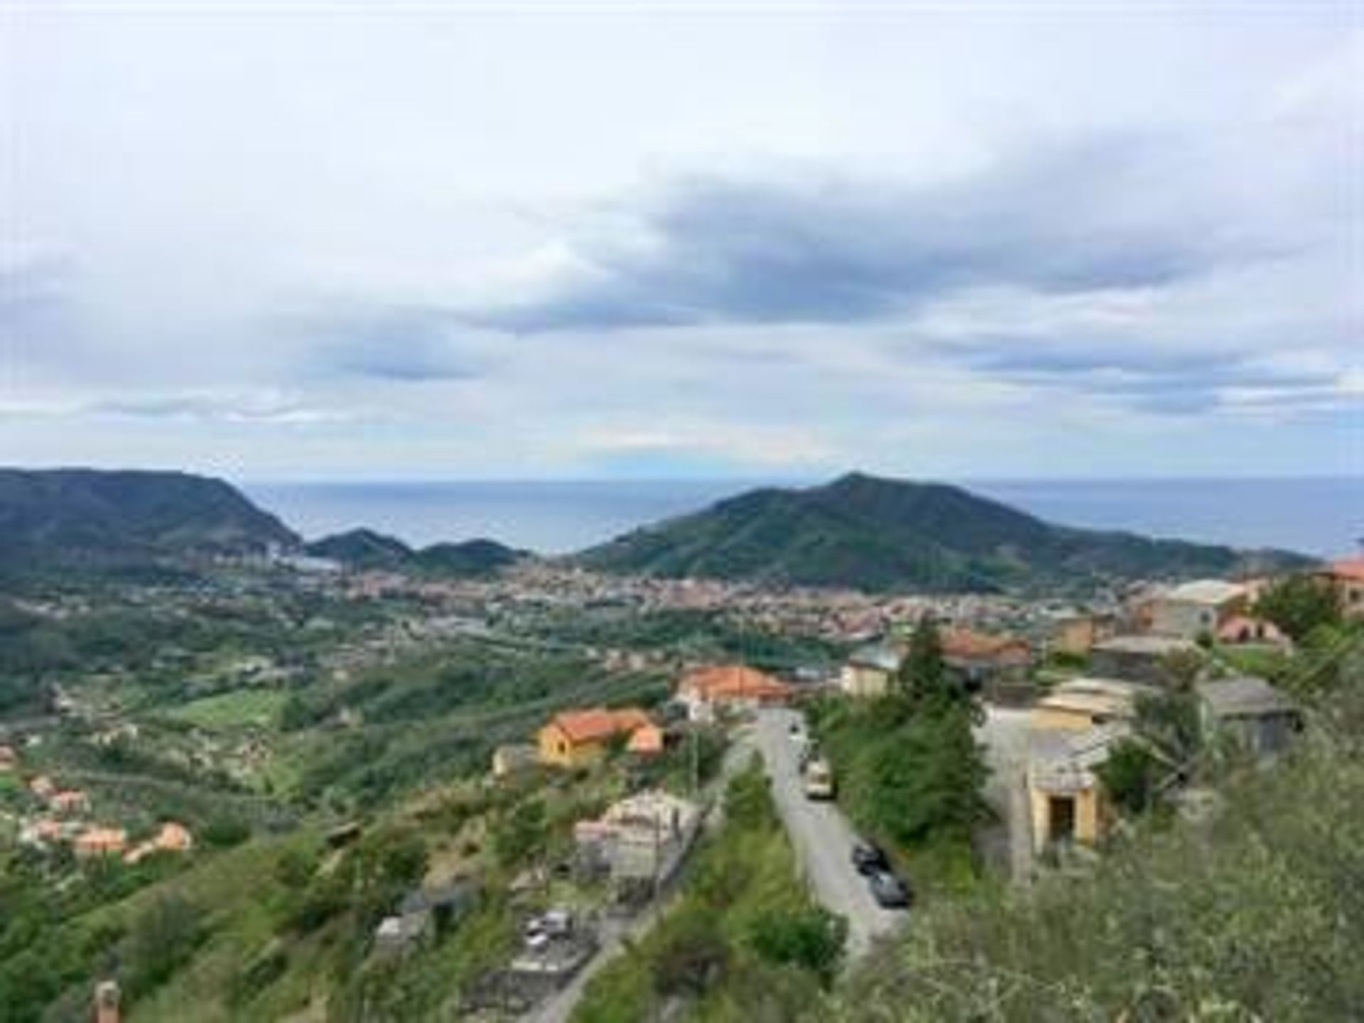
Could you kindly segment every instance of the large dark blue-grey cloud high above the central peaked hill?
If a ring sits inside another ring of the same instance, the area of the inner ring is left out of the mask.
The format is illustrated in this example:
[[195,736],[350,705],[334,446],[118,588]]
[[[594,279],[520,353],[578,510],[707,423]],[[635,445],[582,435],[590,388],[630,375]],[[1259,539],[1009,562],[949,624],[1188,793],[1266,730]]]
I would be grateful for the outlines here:
[[1199,216],[1194,196],[1172,206],[1161,151],[1150,138],[1088,136],[915,187],[682,177],[584,231],[559,261],[572,273],[468,319],[517,333],[857,323],[968,288],[1154,288],[1274,251]]

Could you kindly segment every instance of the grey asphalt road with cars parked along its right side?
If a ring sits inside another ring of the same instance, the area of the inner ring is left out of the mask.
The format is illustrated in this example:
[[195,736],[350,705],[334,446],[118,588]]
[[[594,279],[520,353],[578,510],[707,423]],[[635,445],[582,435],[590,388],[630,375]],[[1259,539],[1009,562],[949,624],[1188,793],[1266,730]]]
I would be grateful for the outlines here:
[[855,833],[837,805],[805,798],[801,747],[788,731],[791,723],[799,720],[794,711],[761,711],[754,742],[772,777],[772,798],[810,888],[827,910],[847,918],[848,959],[857,959],[872,948],[876,937],[893,930],[908,914],[883,910],[872,898],[866,880],[853,866],[850,854]]

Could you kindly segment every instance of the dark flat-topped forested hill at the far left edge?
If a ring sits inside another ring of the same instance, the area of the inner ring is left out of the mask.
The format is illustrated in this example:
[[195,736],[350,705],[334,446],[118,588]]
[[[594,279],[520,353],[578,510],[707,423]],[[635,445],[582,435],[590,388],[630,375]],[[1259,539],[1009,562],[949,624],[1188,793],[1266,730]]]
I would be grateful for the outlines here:
[[207,476],[0,469],[0,565],[98,565],[297,543],[278,518]]

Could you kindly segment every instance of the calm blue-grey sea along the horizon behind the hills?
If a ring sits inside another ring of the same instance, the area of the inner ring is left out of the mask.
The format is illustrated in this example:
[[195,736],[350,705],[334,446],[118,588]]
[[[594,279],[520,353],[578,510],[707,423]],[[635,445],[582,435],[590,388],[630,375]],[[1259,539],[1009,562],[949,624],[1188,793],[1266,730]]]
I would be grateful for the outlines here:
[[[368,527],[413,546],[488,537],[566,554],[757,486],[816,480],[241,483],[307,539]],[[1050,522],[1318,557],[1357,552],[1364,477],[955,480]]]

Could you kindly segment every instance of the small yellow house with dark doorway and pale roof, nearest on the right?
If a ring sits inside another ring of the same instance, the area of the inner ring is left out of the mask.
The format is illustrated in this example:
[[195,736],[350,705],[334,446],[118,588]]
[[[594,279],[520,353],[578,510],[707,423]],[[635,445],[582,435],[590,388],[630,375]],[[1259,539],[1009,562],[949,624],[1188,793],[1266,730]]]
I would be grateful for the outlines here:
[[1113,745],[1129,734],[1125,722],[1031,734],[1027,795],[1035,853],[1056,843],[1091,846],[1103,836],[1113,812],[1095,772]]

